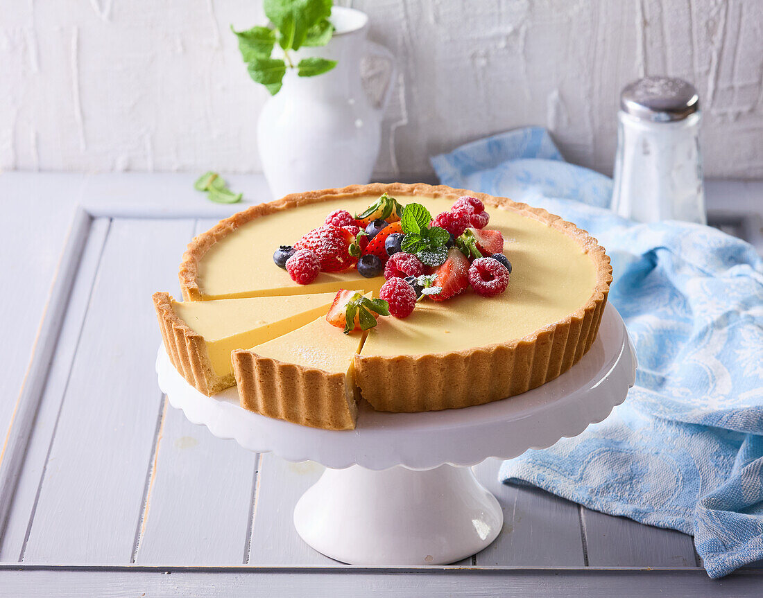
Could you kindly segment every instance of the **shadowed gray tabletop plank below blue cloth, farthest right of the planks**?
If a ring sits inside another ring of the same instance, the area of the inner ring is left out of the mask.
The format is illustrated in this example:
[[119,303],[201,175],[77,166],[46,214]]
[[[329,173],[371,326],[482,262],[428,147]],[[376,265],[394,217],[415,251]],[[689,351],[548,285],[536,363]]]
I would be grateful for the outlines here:
[[694,540],[672,529],[582,509],[588,564],[602,567],[691,567]]

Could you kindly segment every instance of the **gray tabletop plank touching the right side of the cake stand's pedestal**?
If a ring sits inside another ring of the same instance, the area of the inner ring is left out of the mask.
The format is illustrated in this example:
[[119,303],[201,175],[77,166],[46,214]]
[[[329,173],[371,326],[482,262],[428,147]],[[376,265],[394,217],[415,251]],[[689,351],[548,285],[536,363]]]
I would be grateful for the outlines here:
[[582,567],[578,505],[537,488],[501,484],[500,467],[498,459],[475,467],[477,479],[504,510],[504,528],[495,542],[478,553],[477,565]]

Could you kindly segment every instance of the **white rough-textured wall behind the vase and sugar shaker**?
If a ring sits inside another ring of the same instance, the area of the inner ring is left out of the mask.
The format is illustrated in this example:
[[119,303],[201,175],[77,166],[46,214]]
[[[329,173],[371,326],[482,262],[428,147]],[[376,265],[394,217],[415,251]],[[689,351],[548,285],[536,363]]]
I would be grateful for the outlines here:
[[[526,124],[607,174],[620,88],[693,81],[711,177],[763,177],[761,0],[356,0],[402,67],[380,175]],[[0,168],[259,171],[266,92],[229,25],[257,0],[5,0]]]

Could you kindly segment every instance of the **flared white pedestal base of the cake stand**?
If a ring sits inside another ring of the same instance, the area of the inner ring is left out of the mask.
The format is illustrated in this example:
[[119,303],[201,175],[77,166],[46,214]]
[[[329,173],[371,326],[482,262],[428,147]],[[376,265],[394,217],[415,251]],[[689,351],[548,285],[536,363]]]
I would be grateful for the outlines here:
[[297,532],[349,564],[449,564],[496,539],[504,513],[468,467],[327,469],[299,499]]

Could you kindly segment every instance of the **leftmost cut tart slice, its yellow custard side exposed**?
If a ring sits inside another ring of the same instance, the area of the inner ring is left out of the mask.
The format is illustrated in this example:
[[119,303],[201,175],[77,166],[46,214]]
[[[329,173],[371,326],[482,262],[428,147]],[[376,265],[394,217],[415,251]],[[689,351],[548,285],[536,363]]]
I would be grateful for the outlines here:
[[325,314],[334,293],[179,302],[154,293],[164,347],[175,369],[204,395],[235,384],[230,352],[286,334]]

